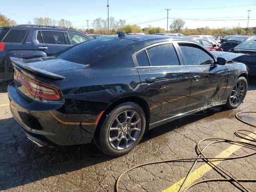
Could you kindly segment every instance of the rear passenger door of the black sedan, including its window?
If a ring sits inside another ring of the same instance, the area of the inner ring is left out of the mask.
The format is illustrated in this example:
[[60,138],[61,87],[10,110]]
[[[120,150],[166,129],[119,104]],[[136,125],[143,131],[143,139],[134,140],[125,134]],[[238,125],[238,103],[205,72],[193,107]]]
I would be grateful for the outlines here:
[[142,96],[150,107],[150,128],[183,113],[190,94],[190,72],[180,65],[171,43],[157,44],[135,53]]

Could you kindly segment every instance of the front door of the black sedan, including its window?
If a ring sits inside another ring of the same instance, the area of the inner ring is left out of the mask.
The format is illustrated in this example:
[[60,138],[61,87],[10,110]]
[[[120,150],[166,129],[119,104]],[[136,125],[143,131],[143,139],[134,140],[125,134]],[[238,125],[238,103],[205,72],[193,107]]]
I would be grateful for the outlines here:
[[191,72],[192,87],[186,111],[222,101],[228,82],[228,69],[218,65],[204,48],[192,43],[178,43],[184,65]]

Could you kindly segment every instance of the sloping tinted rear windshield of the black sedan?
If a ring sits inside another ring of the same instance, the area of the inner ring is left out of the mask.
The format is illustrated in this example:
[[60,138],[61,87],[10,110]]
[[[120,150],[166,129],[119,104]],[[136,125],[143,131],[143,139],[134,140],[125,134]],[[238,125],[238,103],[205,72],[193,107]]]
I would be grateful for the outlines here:
[[79,64],[91,65],[110,53],[134,43],[133,40],[121,38],[97,38],[83,42],[56,54],[57,58]]

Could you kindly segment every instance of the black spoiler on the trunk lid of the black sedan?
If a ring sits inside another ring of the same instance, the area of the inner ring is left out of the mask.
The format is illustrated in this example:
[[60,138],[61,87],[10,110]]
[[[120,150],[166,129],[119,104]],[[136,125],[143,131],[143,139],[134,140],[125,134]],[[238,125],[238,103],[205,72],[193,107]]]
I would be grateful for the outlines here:
[[12,65],[17,65],[23,69],[26,69],[34,74],[38,74],[44,77],[48,77],[51,79],[64,79],[65,77],[54,74],[52,72],[48,72],[46,70],[40,69],[40,68],[35,68],[31,64],[25,63],[24,59],[22,58],[16,58],[16,57],[10,57],[10,60],[12,61]]

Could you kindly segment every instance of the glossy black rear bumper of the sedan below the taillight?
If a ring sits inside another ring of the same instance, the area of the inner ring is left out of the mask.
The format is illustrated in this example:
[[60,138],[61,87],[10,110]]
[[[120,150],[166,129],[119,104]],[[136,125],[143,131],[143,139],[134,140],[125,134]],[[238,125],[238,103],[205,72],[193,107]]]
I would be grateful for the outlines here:
[[74,114],[63,102],[28,102],[12,82],[8,86],[10,110],[28,138],[39,146],[66,146],[92,141],[97,116]]

